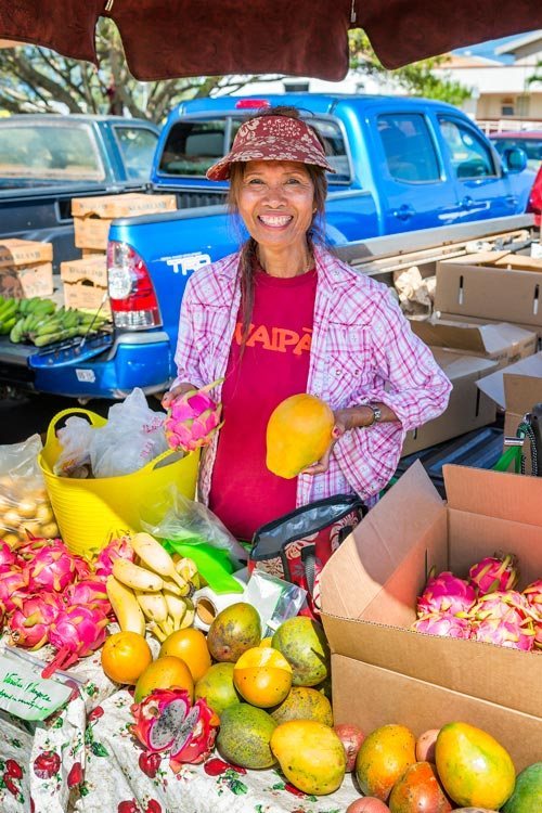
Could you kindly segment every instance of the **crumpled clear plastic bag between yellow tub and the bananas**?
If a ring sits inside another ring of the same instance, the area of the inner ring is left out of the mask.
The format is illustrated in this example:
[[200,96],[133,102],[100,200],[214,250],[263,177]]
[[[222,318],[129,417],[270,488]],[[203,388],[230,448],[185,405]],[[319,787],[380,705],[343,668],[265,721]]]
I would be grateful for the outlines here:
[[227,551],[234,566],[246,562],[247,552],[220,519],[203,503],[181,494],[175,486],[156,495],[153,506],[142,509],[141,527],[152,537],[186,544],[207,543]]

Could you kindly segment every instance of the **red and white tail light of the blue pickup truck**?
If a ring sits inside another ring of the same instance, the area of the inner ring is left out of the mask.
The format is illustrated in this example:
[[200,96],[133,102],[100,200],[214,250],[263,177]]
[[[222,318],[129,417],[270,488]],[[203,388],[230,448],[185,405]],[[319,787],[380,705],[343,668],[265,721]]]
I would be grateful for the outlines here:
[[127,243],[109,241],[107,244],[107,285],[116,327],[137,331],[162,324],[149,270]]

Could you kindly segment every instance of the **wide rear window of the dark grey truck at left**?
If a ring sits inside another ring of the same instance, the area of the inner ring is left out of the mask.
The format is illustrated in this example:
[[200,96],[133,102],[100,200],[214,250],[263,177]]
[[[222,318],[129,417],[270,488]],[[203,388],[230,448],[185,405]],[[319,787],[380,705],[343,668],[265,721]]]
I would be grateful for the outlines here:
[[86,126],[14,122],[0,128],[0,178],[103,181],[105,170]]

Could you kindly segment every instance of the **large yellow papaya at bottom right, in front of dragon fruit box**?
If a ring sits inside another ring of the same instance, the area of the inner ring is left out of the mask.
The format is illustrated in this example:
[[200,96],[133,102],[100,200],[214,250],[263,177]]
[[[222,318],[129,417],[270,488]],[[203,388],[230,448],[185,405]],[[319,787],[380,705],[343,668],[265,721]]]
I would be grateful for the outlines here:
[[499,810],[516,782],[507,751],[490,734],[468,723],[448,723],[437,737],[435,761],[444,790],[463,806]]

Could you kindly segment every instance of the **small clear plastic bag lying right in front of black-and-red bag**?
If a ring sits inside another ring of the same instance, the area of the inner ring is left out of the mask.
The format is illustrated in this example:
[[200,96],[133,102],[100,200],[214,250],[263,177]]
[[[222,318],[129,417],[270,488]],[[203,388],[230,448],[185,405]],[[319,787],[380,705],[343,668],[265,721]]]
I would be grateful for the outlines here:
[[243,601],[258,610],[262,637],[273,635],[283,621],[297,616],[306,599],[306,590],[262,570],[253,570],[243,594]]

